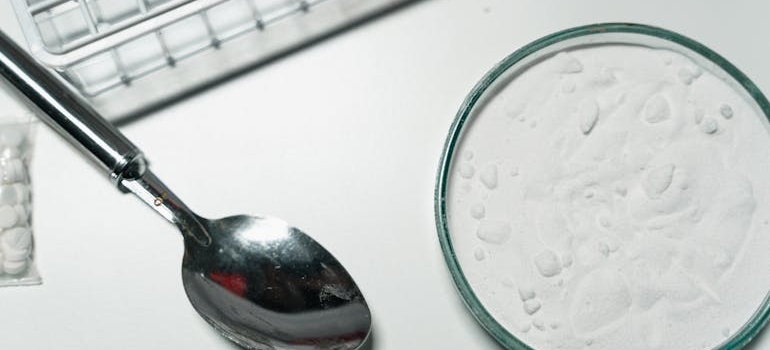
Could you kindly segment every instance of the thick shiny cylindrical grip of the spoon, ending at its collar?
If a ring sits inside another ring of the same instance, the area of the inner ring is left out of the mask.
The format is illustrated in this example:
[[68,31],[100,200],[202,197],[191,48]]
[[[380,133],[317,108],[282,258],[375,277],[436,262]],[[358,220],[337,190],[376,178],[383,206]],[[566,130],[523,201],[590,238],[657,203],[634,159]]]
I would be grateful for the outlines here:
[[2,31],[0,76],[26,97],[20,100],[31,102],[43,122],[90,156],[121,190],[125,191],[123,179],[145,172],[147,164],[138,147]]

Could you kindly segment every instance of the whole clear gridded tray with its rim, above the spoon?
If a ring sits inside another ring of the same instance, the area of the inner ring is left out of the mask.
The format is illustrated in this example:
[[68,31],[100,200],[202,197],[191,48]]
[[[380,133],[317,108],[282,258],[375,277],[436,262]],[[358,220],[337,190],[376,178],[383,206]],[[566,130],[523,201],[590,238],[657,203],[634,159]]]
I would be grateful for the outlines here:
[[30,51],[108,118],[413,0],[12,0]]

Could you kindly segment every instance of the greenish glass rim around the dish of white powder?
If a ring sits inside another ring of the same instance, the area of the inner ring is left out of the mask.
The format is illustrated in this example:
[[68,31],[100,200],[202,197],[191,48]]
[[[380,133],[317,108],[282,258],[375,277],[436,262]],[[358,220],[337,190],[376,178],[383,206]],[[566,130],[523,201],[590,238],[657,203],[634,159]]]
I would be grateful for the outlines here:
[[[463,302],[473,315],[473,317],[481,324],[481,326],[495,339],[498,343],[503,345],[509,350],[536,350],[528,346],[523,341],[519,340],[516,336],[508,332],[502,325],[500,325],[491,313],[484,307],[476,294],[473,292],[468,280],[465,278],[460,262],[457,260],[454,246],[452,245],[451,234],[447,225],[446,218],[446,190],[447,180],[451,170],[451,161],[454,155],[455,147],[462,135],[463,127],[469,121],[474,108],[481,103],[484,94],[494,86],[499,78],[505,76],[508,69],[522,63],[524,60],[531,58],[533,55],[540,53],[541,50],[550,48],[553,45],[563,43],[570,39],[576,39],[596,34],[636,34],[640,36],[649,36],[656,39],[662,39],[663,41],[671,42],[675,45],[684,47],[693,51],[696,55],[700,55],[706,61],[714,64],[718,69],[724,71],[729,77],[748,94],[756,104],[757,107],[764,114],[765,118],[770,121],[770,103],[757,86],[737,67],[731,64],[727,59],[717,54],[715,51],[709,49],[705,45],[690,39],[681,34],[645,24],[636,23],[600,23],[590,24],[570,29],[565,29],[540,39],[537,39],[524,47],[514,51],[502,61],[492,67],[471,89],[470,93],[466,96],[462,102],[460,109],[455,115],[454,121],[449,128],[449,134],[444,143],[444,148],[441,153],[441,159],[439,162],[439,169],[436,176],[436,187],[434,190],[434,214],[436,221],[436,229],[439,236],[439,243],[444,255],[449,272],[452,276],[455,288],[462,297]],[[576,45],[579,46],[579,45]],[[523,69],[528,67],[524,64]],[[770,321],[770,291],[765,296],[765,299],[759,305],[755,313],[751,316],[748,322],[732,337],[727,339],[724,343],[720,344],[714,350],[738,350],[745,347],[751,340],[759,334],[759,332]]]

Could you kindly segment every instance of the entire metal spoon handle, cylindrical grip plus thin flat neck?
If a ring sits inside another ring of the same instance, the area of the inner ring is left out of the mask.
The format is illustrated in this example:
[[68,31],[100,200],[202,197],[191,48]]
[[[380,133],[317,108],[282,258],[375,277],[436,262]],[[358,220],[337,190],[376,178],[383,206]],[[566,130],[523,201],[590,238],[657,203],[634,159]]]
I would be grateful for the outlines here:
[[147,169],[142,151],[2,31],[0,76],[16,88],[6,90],[19,93],[19,100],[37,109],[43,122],[89,156],[121,191],[133,192],[198,243],[211,243],[199,218]]

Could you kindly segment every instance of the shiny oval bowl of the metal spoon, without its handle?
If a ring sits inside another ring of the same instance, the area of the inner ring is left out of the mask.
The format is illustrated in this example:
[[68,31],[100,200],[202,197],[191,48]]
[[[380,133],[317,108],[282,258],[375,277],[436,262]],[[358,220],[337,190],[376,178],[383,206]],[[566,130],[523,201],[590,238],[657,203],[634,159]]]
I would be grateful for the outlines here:
[[200,218],[205,246],[186,236],[182,280],[198,313],[233,342],[259,349],[356,349],[369,310],[345,268],[276,218]]

